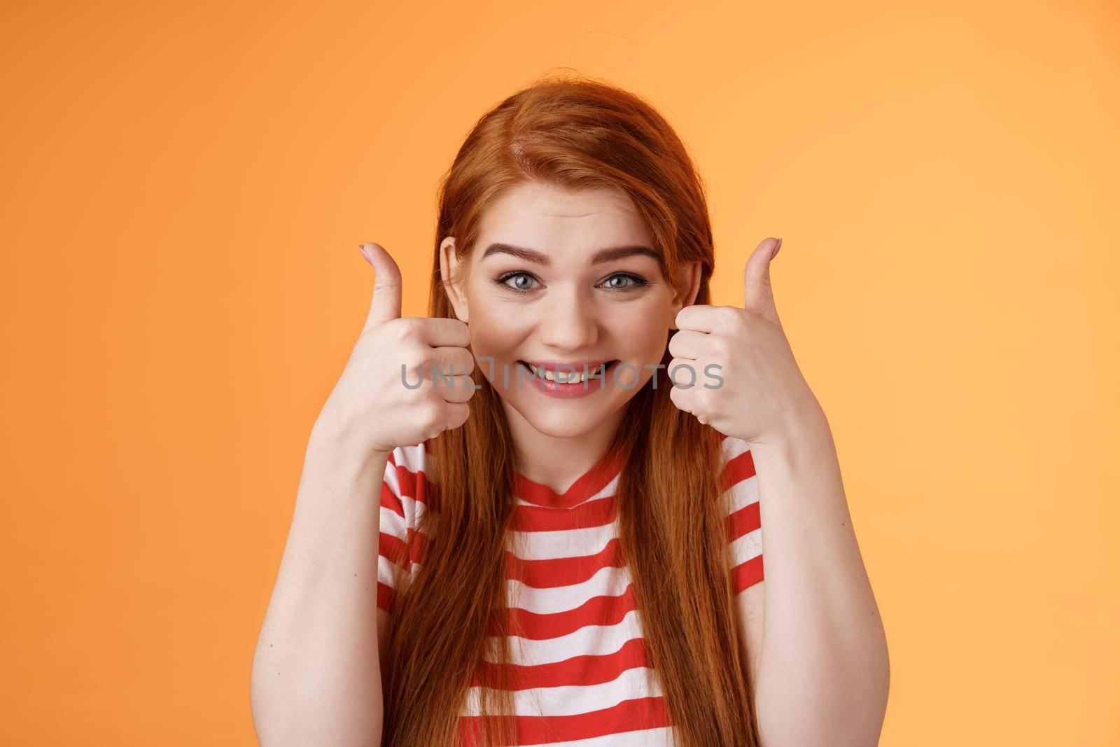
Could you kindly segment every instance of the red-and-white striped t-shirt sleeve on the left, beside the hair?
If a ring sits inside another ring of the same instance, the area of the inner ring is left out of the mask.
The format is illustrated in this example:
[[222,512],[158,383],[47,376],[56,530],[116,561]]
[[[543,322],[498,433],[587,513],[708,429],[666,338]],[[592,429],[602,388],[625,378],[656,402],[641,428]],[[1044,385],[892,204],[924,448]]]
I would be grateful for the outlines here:
[[[409,555],[409,544],[416,531],[418,511],[427,497],[424,445],[393,449],[385,463],[381,483],[381,532],[377,536],[377,607],[393,610],[396,591],[394,567],[408,575],[413,570],[417,550]],[[416,548],[416,543],[413,543]]]

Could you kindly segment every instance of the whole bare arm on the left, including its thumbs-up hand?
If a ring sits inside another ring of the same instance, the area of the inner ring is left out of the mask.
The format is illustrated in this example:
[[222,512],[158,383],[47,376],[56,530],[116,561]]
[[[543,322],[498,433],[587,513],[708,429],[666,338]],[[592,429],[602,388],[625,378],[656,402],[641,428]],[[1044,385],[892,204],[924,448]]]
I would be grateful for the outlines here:
[[[251,703],[263,747],[381,744],[377,618],[381,483],[396,446],[461,426],[474,390],[470,332],[401,318],[401,276],[377,244],[373,302],[316,419],[288,541],[253,655]],[[403,366],[403,370],[402,370]],[[432,366],[454,385],[405,386]]]

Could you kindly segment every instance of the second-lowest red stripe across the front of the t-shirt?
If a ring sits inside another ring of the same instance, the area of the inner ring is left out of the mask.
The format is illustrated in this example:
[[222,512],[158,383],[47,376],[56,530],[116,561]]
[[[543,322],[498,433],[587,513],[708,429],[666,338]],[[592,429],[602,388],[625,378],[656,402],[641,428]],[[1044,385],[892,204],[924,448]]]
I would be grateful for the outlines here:
[[504,674],[511,690],[561,688],[610,682],[626,670],[652,667],[643,638],[631,638],[613,654],[585,654],[549,664],[496,664],[479,662],[470,687],[496,688]]

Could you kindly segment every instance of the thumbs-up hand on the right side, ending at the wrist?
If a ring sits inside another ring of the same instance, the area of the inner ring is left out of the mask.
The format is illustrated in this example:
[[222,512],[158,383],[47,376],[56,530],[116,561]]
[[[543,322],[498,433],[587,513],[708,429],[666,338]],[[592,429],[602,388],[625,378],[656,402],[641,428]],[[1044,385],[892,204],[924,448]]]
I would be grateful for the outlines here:
[[[687,306],[669,342],[673,403],[727,436],[765,443],[788,433],[819,403],[793,357],[771,289],[782,245],[766,239],[747,260],[743,308]],[[694,375],[673,372],[691,366]],[[690,382],[694,382],[691,383]]]

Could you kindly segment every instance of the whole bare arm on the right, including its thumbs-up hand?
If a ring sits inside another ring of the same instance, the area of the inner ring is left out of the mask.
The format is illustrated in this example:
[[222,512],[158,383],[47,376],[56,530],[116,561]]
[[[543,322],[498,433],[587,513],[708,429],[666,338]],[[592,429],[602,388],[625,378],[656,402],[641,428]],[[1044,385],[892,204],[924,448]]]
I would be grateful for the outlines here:
[[744,308],[678,315],[670,372],[688,365],[698,377],[672,399],[750,446],[766,559],[755,689],[763,745],[870,747],[887,704],[886,635],[828,419],[777,318],[769,261],[780,245],[767,239],[747,261]]

